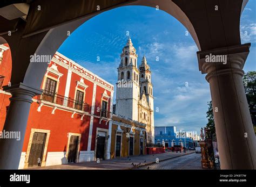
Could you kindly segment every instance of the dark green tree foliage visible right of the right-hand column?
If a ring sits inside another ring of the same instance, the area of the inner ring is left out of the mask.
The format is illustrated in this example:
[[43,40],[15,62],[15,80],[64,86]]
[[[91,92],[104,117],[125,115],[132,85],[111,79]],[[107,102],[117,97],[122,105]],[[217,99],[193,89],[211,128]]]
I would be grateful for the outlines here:
[[245,94],[252,118],[252,123],[256,125],[256,71],[248,71],[243,77],[242,82],[245,87]]

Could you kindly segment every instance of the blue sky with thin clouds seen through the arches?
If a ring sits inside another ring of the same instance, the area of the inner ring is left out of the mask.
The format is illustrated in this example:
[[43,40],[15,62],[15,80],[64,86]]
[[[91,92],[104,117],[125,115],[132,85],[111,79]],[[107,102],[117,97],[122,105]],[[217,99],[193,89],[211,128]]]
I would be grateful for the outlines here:
[[[245,71],[256,70],[255,6],[255,1],[249,1],[241,17],[242,44],[252,43]],[[138,62],[145,54],[151,67],[154,107],[159,109],[154,112],[155,126],[176,126],[177,130],[199,133],[207,124],[210,88],[198,70],[198,48],[191,35],[186,36],[186,28],[166,12],[145,6],[104,12],[77,28],[58,52],[116,85],[127,31],[137,49]]]

